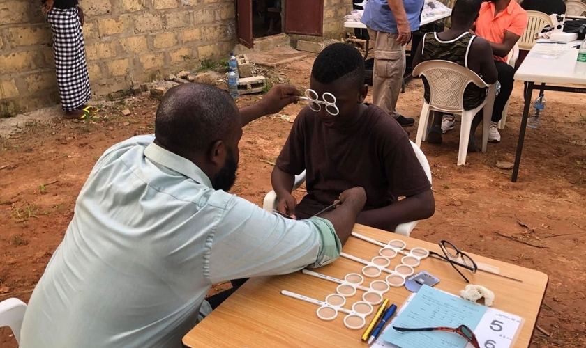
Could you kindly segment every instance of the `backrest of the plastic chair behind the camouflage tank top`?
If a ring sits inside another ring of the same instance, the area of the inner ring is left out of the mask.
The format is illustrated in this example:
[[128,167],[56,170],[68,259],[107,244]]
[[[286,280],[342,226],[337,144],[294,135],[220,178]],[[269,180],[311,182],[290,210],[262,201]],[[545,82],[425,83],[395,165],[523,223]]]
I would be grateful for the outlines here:
[[414,77],[426,77],[430,89],[429,104],[437,111],[462,113],[464,91],[472,83],[488,85],[472,70],[450,61],[426,61],[415,67]]

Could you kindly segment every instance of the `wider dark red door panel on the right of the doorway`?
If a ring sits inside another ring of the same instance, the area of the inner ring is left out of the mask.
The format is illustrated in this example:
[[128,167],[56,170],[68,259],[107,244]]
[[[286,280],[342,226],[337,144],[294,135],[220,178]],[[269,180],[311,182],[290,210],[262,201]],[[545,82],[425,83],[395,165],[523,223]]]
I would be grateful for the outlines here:
[[322,36],[324,0],[286,0],[285,33]]

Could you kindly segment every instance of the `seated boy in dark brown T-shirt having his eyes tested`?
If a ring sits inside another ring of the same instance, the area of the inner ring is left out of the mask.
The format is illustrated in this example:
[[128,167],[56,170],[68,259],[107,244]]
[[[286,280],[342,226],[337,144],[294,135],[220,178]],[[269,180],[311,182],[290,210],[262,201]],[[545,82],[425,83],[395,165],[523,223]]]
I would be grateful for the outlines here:
[[[407,133],[382,109],[363,104],[364,76],[363,58],[350,45],[330,45],[315,59],[311,89],[320,100],[333,94],[339,113],[306,106],[295,118],[271,177],[278,211],[304,219],[360,185],[367,200],[357,223],[392,231],[435,212],[430,182]],[[294,175],[303,170],[308,194],[298,205],[291,191]]]

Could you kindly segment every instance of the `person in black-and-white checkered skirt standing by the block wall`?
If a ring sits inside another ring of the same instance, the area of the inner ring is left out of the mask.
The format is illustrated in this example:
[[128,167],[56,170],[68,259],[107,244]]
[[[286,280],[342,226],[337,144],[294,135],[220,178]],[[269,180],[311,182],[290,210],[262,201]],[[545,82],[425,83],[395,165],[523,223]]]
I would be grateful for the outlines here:
[[83,118],[91,97],[82,32],[84,12],[77,0],[45,0],[43,12],[53,31],[57,85],[66,118]]

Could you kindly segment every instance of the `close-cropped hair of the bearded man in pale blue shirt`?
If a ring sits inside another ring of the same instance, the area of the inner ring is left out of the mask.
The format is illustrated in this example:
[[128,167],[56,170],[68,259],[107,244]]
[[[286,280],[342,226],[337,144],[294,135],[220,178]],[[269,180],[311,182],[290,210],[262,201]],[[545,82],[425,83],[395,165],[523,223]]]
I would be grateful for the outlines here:
[[206,151],[227,139],[238,110],[230,95],[208,84],[180,84],[165,93],[155,119],[155,137],[176,153]]

